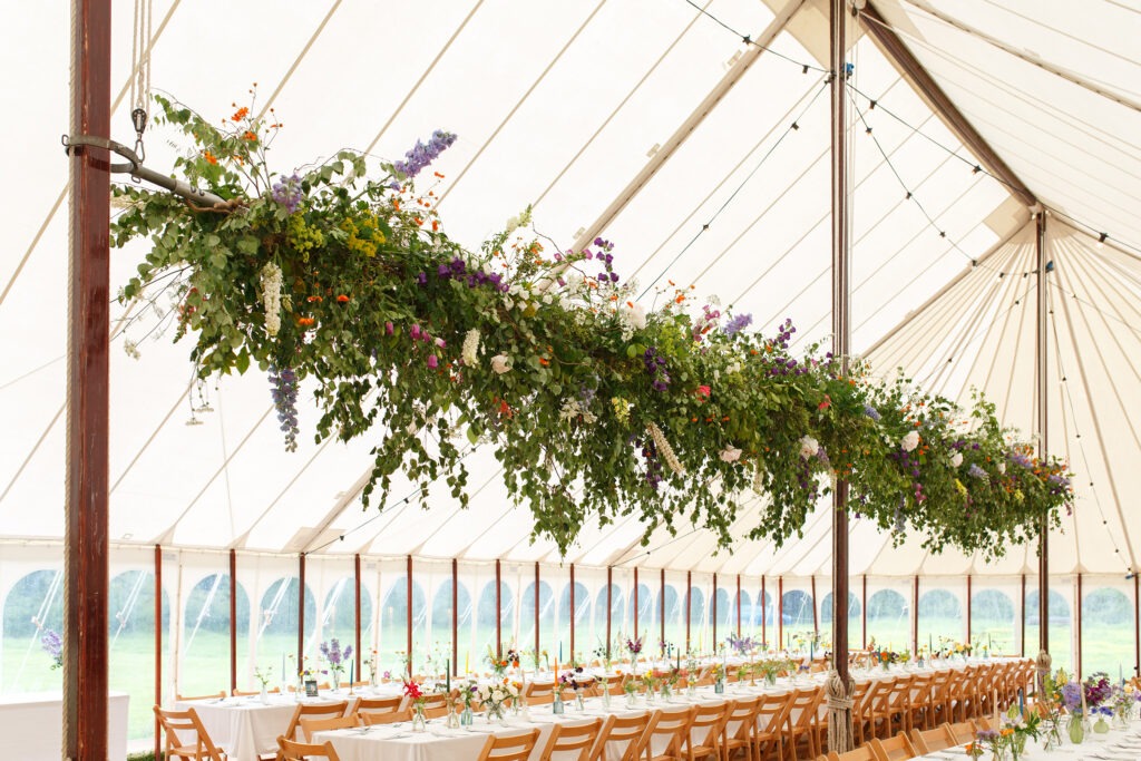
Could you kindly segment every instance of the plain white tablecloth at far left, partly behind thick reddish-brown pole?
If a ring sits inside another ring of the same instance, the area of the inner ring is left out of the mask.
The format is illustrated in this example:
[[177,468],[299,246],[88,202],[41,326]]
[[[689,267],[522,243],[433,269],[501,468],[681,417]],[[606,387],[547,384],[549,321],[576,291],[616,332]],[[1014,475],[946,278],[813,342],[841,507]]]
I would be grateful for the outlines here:
[[[107,758],[127,759],[127,693],[107,696]],[[64,702],[60,693],[0,695],[0,758],[59,761]]]

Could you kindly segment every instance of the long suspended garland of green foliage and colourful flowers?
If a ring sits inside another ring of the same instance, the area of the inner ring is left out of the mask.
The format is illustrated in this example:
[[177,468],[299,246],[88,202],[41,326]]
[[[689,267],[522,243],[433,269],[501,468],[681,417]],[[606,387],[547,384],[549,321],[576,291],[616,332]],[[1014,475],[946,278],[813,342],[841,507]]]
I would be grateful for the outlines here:
[[[691,317],[691,286],[647,313],[609,242],[548,251],[516,235],[529,210],[466,251],[440,229],[435,191],[413,187],[452,135],[381,163],[380,179],[348,151],[285,177],[266,162],[280,124],[241,108],[217,128],[157,100],[195,143],[176,169],[228,203],[116,188],[114,242],[152,245],[121,300],[171,291],[202,378],[268,373],[288,448],[297,384],[314,381],[318,440],[375,442],[366,502],[402,471],[421,501],[445,478],[467,504],[467,439],[494,448],[534,534],[564,550],[588,520],[631,513],[646,536],[691,525],[722,545],[779,544],[835,478],[853,513],[897,540],[912,526],[934,551],[1000,556],[1068,509],[1065,464],[1033,459],[981,398],[962,411],[857,358],[843,373],[816,347],[794,357],[791,322],[762,337],[718,303]],[[738,525],[754,492],[760,518]]]

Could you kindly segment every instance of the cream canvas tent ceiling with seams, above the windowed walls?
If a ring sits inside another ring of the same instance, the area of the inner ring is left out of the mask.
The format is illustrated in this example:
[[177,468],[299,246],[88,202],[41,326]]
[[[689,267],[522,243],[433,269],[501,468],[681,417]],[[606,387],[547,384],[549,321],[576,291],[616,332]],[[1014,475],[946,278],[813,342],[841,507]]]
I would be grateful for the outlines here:
[[[280,170],[341,146],[398,156],[436,127],[458,132],[438,162],[446,180],[437,189],[446,229],[472,246],[527,203],[535,204],[536,228],[569,245],[657,161],[671,135],[702,116],[606,226],[618,245],[618,269],[657,288],[694,283],[698,294],[751,311],[760,330],[791,316],[804,347],[826,338],[830,321],[828,106],[818,71],[826,6],[698,5],[725,26],[683,0],[468,0],[436,3],[430,18],[415,3],[156,2],[154,81],[212,118],[248,100],[258,81],[258,105],[272,103],[285,124],[272,152]],[[1130,106],[1130,86],[1141,65],[1126,43],[1141,32],[1141,14],[1108,0],[1091,5],[1079,22],[1067,3],[1035,3],[1033,18],[985,0],[933,7],[972,32],[931,15],[926,3],[876,3],[984,137],[1055,210],[1051,293],[1066,308],[1059,306],[1052,325],[1058,370],[1051,388],[1059,390],[1050,436],[1057,451],[1066,447],[1079,483],[1075,515],[1053,543],[1059,573],[1124,570],[1141,535],[1128,520],[1136,486],[1131,465],[1141,454],[1138,413],[1128,404],[1141,390],[1132,359],[1141,229],[1130,213],[1141,197],[1141,116]],[[792,21],[777,32],[774,18],[786,13]],[[128,6],[116,6],[116,14],[121,41],[130,30]],[[734,86],[703,113],[703,99],[748,58],[726,26],[754,39],[772,30],[772,50],[744,73],[738,68]],[[67,87],[66,29],[66,10],[44,6],[0,33],[9,71],[37,64],[2,96],[8,113],[25,115],[7,121],[8,145],[35,146],[10,154],[10,176],[21,183],[0,191],[9,241],[0,262],[6,541],[63,533],[66,167],[43,161],[54,139],[43,126],[66,123],[59,97]],[[1050,54],[1075,79],[1097,79],[1118,97],[1091,94],[997,49],[984,33]],[[186,51],[201,50],[203,40],[217,55],[188,65]],[[116,86],[128,81],[128,52],[118,46]],[[868,356],[880,370],[901,365],[953,397],[977,384],[1008,422],[1030,430],[1034,301],[1033,291],[1022,293],[1031,280],[1022,277],[1028,212],[1001,183],[971,171],[974,157],[869,39],[856,43],[851,59],[853,86],[881,105],[872,110],[866,97],[855,98],[855,350],[874,347]],[[792,62],[812,67],[804,72]],[[129,133],[128,110],[120,103],[113,119],[121,138]],[[149,164],[171,165],[170,138],[148,133]],[[1090,232],[1109,232],[1110,245],[1094,246]],[[113,282],[126,282],[143,251],[114,253]],[[971,260],[980,265],[971,268]],[[653,290],[644,300],[654,301]],[[549,542],[529,542],[529,513],[510,505],[491,452],[469,458],[478,492],[468,510],[439,488],[426,513],[414,500],[400,502],[414,494],[400,484],[382,512],[362,513],[367,440],[313,444],[315,414],[302,405],[302,444],[285,453],[264,378],[254,372],[200,390],[191,382],[188,346],[171,346],[169,335],[144,341],[143,358],[130,359],[118,350],[129,321],[120,313],[115,307],[112,325],[113,541],[559,560]],[[148,327],[131,324],[126,334],[138,340]],[[893,338],[880,342],[892,330]],[[1057,382],[1061,375],[1065,383]],[[212,412],[192,413],[203,394]],[[201,424],[184,424],[192,419]],[[756,509],[744,511],[742,531],[755,523]],[[685,531],[655,533],[646,553],[638,545],[642,527],[620,520],[589,527],[566,559],[827,573],[827,517],[818,511],[803,540],[780,550],[743,543],[731,553],[717,552],[704,532]],[[866,523],[852,531],[853,573],[1020,573],[1035,564],[1033,549],[984,567],[970,558],[929,557],[914,540],[891,548]]]

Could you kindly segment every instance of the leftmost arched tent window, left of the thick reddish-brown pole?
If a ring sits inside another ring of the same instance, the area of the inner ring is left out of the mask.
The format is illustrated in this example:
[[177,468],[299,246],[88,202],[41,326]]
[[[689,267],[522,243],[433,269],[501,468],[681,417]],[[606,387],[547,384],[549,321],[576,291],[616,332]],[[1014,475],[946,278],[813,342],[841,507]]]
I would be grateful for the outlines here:
[[3,691],[59,689],[59,674],[40,649],[40,638],[64,628],[63,572],[33,570],[13,585],[3,601]]

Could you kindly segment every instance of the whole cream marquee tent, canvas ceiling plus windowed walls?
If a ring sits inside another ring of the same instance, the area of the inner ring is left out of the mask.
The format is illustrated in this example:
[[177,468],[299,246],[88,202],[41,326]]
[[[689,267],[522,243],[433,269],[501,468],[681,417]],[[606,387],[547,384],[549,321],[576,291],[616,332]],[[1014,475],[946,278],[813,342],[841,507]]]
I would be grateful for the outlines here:
[[[1051,649],[1055,663],[1086,672],[1141,666],[1141,517],[1132,509],[1141,491],[1141,57],[1132,44],[1141,6],[857,5],[855,354],[952,398],[981,389],[1006,424],[1035,431],[1034,216],[1045,214],[1046,434],[1077,475],[1073,515],[1051,536]],[[131,10],[115,6],[112,124],[124,143]],[[35,637],[58,629],[60,615],[67,167],[44,126],[67,123],[68,24],[66,8],[48,3],[0,33],[7,70],[23,72],[0,96],[15,148],[0,191],[9,242],[0,258],[5,693],[50,683]],[[671,283],[694,284],[751,313],[761,331],[791,317],[794,348],[828,339],[826,2],[447,0],[427,11],[159,0],[149,35],[154,91],[221,119],[256,90],[253,110],[272,107],[284,124],[270,153],[280,171],[342,146],[398,157],[444,128],[459,139],[434,165],[444,176],[435,192],[445,228],[464,244],[532,204],[535,230],[560,248],[597,234],[614,241],[616,268],[642,284],[647,307]],[[145,145],[159,170],[180,149],[162,127]],[[144,253],[137,243],[113,251],[112,282],[126,283]],[[140,687],[130,672],[155,655],[156,589],[167,695],[229,679],[230,589],[242,686],[259,661],[293,653],[299,631],[311,653],[349,635],[357,614],[386,664],[406,643],[478,657],[495,631],[589,650],[606,631],[636,626],[673,641],[737,628],[769,640],[827,630],[827,509],[779,548],[719,550],[701,529],[654,531],[642,544],[645,527],[626,519],[590,526],[561,556],[532,541],[526,505],[511,504],[493,454],[476,450],[467,509],[443,487],[421,508],[405,483],[382,510],[362,510],[371,444],[315,443],[311,389],[302,386],[298,451],[285,452],[256,370],[193,382],[189,346],[172,345],[161,321],[119,305],[112,313],[112,685],[141,710],[132,736],[152,731],[153,683]],[[742,515],[742,532],[763,499]],[[859,519],[850,541],[855,643],[989,635],[1036,650],[1035,547],[987,564],[931,554],[914,532],[896,547]],[[1083,632],[1083,613],[1099,625]]]

